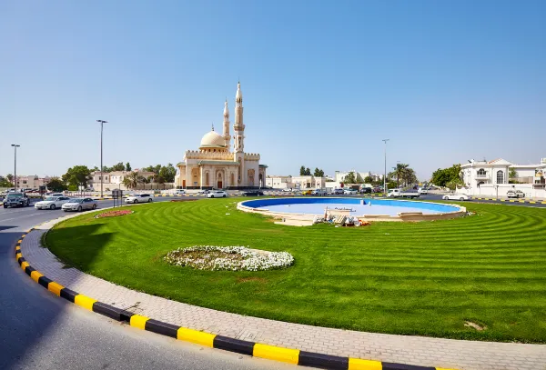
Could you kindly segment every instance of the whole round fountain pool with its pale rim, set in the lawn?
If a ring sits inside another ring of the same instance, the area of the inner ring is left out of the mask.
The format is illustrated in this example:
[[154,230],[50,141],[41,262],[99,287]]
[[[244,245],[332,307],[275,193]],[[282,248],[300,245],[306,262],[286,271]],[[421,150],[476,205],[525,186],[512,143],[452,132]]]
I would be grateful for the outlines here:
[[296,197],[241,202],[238,209],[282,218],[312,220],[316,215],[352,215],[376,221],[422,221],[459,217],[460,205],[391,199]]

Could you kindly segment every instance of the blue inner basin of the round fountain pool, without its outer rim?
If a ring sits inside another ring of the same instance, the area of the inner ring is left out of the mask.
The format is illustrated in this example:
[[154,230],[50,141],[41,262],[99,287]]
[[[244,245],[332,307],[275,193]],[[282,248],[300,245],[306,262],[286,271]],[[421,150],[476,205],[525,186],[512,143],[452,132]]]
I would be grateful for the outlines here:
[[420,212],[423,215],[438,215],[457,212],[458,205],[440,205],[438,203],[415,202],[390,199],[361,198],[274,198],[256,199],[243,202],[251,208],[264,209],[271,212],[290,214],[324,215],[325,209],[350,209],[350,215],[390,215],[399,213]]

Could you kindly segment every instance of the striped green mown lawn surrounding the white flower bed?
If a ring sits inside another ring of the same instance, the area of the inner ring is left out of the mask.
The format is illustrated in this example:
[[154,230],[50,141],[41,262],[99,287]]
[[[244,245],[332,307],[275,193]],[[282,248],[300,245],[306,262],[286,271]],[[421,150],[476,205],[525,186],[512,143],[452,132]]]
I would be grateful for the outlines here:
[[[359,228],[274,225],[239,199],[157,203],[57,225],[67,265],[119,285],[243,315],[370,332],[546,343],[546,209],[465,204],[478,215]],[[226,215],[230,214],[230,215]],[[179,246],[288,251],[295,265],[209,272],[167,265]],[[468,320],[487,326],[464,326]]]

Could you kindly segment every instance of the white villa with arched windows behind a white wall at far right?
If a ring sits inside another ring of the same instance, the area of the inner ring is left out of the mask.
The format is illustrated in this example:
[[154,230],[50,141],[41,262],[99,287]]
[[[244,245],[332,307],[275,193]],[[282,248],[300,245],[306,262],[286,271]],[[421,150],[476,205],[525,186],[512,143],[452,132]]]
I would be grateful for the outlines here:
[[517,165],[502,158],[493,161],[472,159],[461,165],[460,170],[464,183],[464,187],[457,189],[460,193],[504,196],[516,189],[526,196],[546,197],[546,158],[536,165]]

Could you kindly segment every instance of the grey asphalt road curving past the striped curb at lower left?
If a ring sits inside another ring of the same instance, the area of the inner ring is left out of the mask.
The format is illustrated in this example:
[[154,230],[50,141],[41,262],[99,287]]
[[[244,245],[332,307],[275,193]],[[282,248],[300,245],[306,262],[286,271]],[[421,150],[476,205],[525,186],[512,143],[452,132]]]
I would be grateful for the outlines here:
[[138,330],[50,294],[21,271],[13,251],[25,230],[61,215],[0,207],[0,369],[296,368]]

